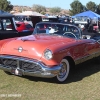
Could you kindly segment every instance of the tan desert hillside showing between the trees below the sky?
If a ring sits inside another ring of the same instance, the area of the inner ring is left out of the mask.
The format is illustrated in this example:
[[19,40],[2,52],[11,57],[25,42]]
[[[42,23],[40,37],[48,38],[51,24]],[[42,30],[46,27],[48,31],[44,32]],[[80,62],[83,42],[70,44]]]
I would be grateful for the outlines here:
[[[32,11],[32,7],[29,6],[18,6],[18,5],[14,5],[13,10],[11,11],[11,13],[17,13],[17,12],[22,12],[22,11]],[[46,8],[46,13],[50,14],[50,8]],[[62,9],[62,11],[60,12],[59,15],[69,15],[69,10],[66,9]]]

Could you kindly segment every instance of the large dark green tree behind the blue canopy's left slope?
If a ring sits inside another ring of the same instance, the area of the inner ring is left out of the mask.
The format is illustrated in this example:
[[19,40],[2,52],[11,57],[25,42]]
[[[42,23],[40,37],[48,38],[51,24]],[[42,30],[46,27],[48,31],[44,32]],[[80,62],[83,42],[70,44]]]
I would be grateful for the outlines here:
[[84,6],[79,0],[74,0],[71,4],[70,15],[75,15],[84,11]]

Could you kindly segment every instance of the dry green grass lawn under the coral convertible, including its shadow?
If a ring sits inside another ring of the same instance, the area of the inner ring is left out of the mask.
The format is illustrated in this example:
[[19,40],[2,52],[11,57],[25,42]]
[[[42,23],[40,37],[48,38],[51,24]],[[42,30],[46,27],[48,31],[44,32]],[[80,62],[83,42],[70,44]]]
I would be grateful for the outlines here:
[[[100,100],[100,64],[92,60],[77,67],[64,84],[0,70],[0,100]],[[21,97],[9,97],[17,94]]]

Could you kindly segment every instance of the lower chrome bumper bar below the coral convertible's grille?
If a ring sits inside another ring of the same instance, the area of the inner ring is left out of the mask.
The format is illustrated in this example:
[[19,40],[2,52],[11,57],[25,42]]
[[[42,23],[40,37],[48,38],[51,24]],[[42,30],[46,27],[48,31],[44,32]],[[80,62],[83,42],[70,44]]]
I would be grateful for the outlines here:
[[[11,67],[7,68],[7,67],[2,66],[2,65],[0,65],[0,69],[7,71],[7,72],[11,72],[11,70],[12,70]],[[55,77],[59,73],[60,69],[61,69],[61,65],[55,66],[53,68],[42,68],[41,71],[36,71],[36,72],[31,72],[31,71],[28,71],[28,70],[24,71],[23,69],[17,69],[17,70],[19,72],[22,72],[22,75],[52,78],[52,77]],[[17,74],[15,74],[15,75],[17,75]]]

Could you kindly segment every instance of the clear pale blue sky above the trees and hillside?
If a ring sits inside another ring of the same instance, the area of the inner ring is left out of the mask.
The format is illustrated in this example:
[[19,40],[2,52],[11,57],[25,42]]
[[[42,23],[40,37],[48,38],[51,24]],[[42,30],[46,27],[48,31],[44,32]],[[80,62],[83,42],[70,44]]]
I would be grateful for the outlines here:
[[[7,0],[10,1],[12,5],[19,6],[30,6],[33,4],[39,4],[45,7],[60,7],[62,9],[70,9],[70,4],[74,0]],[[83,5],[86,5],[87,2],[92,1],[96,4],[100,4],[99,0],[79,0]]]

